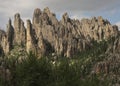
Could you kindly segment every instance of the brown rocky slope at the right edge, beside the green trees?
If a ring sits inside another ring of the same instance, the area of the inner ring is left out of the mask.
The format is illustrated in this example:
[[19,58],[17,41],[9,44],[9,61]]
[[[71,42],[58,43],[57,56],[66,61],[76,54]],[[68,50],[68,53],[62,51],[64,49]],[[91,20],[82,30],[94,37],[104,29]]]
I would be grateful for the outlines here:
[[110,78],[114,75],[118,78],[120,70],[120,36],[118,35],[111,37],[108,40],[108,48],[106,52],[101,55],[101,60],[98,60],[94,66],[94,71],[96,74],[109,74]]

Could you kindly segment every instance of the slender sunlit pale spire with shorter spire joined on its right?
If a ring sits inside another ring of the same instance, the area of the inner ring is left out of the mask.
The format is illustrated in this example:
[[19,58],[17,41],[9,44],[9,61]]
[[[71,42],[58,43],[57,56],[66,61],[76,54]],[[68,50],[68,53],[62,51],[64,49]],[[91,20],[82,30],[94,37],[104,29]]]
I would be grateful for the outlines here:
[[42,33],[39,34],[39,37],[36,38],[34,29],[32,28],[32,24],[30,20],[27,20],[27,41],[26,41],[26,51],[34,52],[39,57],[45,55],[45,43],[43,40]]

